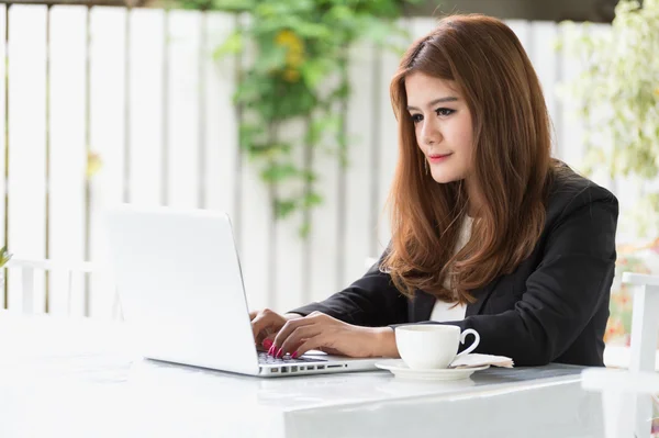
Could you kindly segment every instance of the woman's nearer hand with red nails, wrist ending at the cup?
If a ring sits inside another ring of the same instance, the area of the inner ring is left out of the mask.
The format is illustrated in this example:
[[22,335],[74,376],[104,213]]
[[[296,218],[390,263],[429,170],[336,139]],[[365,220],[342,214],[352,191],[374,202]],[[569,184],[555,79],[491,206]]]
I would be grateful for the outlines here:
[[269,351],[278,358],[291,353],[294,359],[313,349],[354,358],[398,356],[391,328],[356,326],[321,312],[287,321],[278,332]]

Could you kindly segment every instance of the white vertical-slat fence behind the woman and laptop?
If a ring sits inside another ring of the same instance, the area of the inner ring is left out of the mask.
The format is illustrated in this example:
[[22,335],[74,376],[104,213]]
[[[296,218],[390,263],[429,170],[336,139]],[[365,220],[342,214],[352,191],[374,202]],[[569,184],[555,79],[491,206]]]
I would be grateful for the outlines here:
[[[287,310],[320,300],[364,272],[364,260],[388,240],[382,206],[395,161],[395,123],[388,82],[394,54],[354,49],[348,105],[349,167],[316,153],[323,205],[308,242],[300,220],[275,223],[267,189],[239,154],[231,103],[234,58],[212,49],[232,31],[222,13],[123,8],[0,5],[0,242],[23,259],[103,265],[99,212],[127,201],[222,209],[237,221],[250,307]],[[7,20],[5,20],[7,15]],[[403,23],[414,36],[433,19]],[[578,165],[579,126],[555,97],[557,81],[578,67],[555,49],[555,23],[510,21],[546,90],[557,134],[556,155]],[[8,68],[7,76],[4,68]],[[1,104],[5,102],[7,105]],[[88,182],[88,156],[102,161]],[[604,182],[606,183],[606,182]],[[111,317],[111,281],[82,273],[72,293],[77,313]],[[46,282],[47,300],[46,300]],[[37,312],[65,312],[71,279],[37,276]],[[20,276],[9,272],[7,306],[21,303]]]

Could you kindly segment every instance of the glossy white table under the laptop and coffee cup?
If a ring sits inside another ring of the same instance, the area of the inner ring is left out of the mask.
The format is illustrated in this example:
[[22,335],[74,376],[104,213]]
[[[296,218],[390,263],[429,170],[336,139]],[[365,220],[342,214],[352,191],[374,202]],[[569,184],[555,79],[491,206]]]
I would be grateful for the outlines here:
[[0,312],[0,437],[602,437],[579,367],[453,383],[258,379],[138,357],[120,323]]

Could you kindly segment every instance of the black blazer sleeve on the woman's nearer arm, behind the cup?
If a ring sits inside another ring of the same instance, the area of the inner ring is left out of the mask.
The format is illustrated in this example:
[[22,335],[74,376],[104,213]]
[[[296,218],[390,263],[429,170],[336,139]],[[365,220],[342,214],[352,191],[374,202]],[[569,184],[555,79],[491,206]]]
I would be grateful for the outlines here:
[[541,262],[527,278],[526,290],[514,308],[456,322],[420,324],[473,328],[480,335],[476,352],[507,356],[517,366],[554,361],[579,336],[611,291],[617,216],[618,204],[613,195],[581,202],[562,215],[549,231]]

